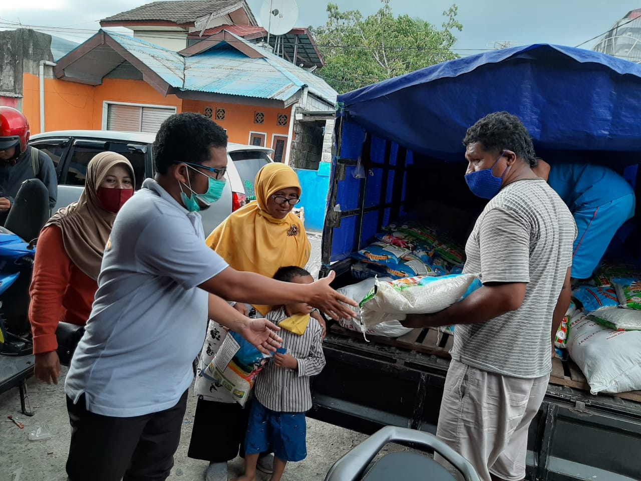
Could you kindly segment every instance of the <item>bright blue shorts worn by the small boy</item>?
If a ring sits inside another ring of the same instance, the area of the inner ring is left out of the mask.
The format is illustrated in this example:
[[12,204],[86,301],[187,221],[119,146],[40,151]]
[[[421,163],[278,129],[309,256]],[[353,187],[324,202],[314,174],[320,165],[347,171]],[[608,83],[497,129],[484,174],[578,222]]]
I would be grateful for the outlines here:
[[302,461],[307,457],[307,426],[304,412],[276,412],[254,399],[249,411],[245,453],[274,450],[283,461]]

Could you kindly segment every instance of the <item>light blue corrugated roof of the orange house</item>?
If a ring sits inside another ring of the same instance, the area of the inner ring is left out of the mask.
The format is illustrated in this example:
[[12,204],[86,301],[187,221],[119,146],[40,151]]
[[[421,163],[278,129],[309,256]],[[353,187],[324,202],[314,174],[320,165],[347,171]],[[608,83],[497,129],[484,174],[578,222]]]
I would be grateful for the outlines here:
[[[105,32],[171,87],[213,94],[287,101],[307,85],[308,92],[336,102],[337,92],[326,81],[287,60],[234,36],[264,55],[249,58],[226,42],[188,58],[140,38]],[[144,72],[143,72],[144,73]]]

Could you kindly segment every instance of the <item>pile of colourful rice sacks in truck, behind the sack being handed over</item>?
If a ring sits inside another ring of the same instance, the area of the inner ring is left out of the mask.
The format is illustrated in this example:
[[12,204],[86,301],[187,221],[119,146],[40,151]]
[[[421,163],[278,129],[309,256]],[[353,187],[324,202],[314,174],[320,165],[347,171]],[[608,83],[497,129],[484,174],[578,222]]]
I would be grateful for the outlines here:
[[463,249],[447,234],[414,221],[390,224],[369,246],[352,254],[354,278],[445,276],[463,271]]

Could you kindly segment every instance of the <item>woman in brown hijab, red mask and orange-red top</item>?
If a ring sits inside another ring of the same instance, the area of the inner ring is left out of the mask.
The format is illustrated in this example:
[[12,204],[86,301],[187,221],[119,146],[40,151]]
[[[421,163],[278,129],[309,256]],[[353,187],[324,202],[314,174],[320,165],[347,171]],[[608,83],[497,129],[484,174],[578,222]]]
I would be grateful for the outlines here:
[[58,323],[87,323],[104,246],[134,185],[133,168],[126,157],[99,153],[87,165],[85,190],[78,202],[58,210],[40,232],[29,289],[29,321],[35,376],[48,384],[58,384],[60,375]]

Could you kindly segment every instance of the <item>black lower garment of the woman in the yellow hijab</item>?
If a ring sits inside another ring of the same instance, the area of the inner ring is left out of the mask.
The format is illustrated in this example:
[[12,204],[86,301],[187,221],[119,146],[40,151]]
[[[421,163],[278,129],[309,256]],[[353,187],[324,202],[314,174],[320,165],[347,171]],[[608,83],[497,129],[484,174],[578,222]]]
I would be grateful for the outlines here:
[[187,456],[209,462],[225,462],[234,459],[240,450],[240,455],[244,457],[249,406],[249,402],[243,409],[238,403],[219,403],[198,398]]

